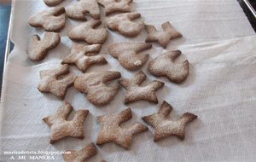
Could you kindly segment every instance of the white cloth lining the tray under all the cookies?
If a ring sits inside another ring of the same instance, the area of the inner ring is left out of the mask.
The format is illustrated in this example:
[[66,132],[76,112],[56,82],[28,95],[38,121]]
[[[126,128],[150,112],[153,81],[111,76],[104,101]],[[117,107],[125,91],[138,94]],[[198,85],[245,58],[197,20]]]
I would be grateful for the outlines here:
[[[61,5],[68,3],[71,1]],[[35,33],[42,36],[43,31],[33,29],[26,20],[30,14],[46,7],[43,1],[38,0],[14,1],[13,5],[12,40],[15,49],[9,55],[4,72],[0,113],[1,160],[11,161],[11,155],[4,154],[4,151],[73,150],[96,142],[100,129],[96,116],[124,110],[125,90],[119,90],[108,106],[95,107],[84,95],[70,88],[66,100],[74,109],[90,110],[84,122],[85,138],[67,138],[50,145],[50,130],[42,119],[55,113],[61,101],[37,90],[38,72],[56,67],[68,55],[72,42],[67,38],[67,31],[74,21],[67,20],[67,26],[61,32],[61,44],[51,50],[44,61],[32,63],[26,56],[28,40]],[[188,125],[184,141],[168,137],[153,142],[154,132],[147,124],[149,130],[134,136],[131,150],[105,144],[98,148],[98,154],[91,161],[254,161],[256,37],[245,37],[254,32],[239,4],[234,0],[137,0],[133,9],[140,12],[149,24],[160,26],[170,20],[183,33],[183,38],[172,41],[168,49],[183,51],[180,60],[189,60],[190,72],[183,84],[172,84],[166,78],[157,78],[166,83],[157,92],[159,104],[138,101],[129,105],[133,118],[127,124],[143,122],[141,118],[156,113],[164,100],[174,107],[171,114],[174,119],[186,112],[195,113],[198,119]],[[144,41],[145,37],[145,32],[131,39],[110,32],[101,53],[107,54],[111,43]],[[224,40],[228,38],[233,39]],[[162,52],[163,49],[154,43],[154,48],[147,51],[149,60]],[[88,72],[109,69],[121,72],[125,78],[131,78],[136,73],[120,67],[112,56],[106,57],[108,65],[91,67]],[[76,67],[72,67],[72,72],[80,75]],[[143,67],[143,72],[148,76],[147,82],[156,79],[148,73],[147,65]],[[17,159],[18,155],[14,155],[14,158]],[[61,155],[55,155],[54,158],[51,161],[62,161]],[[26,161],[30,161],[29,155]]]

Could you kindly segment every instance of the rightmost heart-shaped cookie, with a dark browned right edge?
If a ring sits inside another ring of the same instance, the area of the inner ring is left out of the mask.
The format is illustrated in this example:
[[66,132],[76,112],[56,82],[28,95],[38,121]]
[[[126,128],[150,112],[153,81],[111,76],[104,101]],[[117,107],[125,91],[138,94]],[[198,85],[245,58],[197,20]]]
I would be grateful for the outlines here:
[[166,77],[174,83],[183,82],[189,75],[189,61],[175,62],[179,55],[181,51],[174,50],[156,57],[150,61],[148,71],[154,76]]

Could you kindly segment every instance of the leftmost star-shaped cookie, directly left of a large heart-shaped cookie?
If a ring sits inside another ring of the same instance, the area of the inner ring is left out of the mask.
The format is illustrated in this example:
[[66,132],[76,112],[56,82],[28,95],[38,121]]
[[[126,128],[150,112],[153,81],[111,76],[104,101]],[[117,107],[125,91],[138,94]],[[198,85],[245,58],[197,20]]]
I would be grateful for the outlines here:
[[38,85],[38,90],[43,93],[52,93],[64,99],[67,88],[71,86],[76,79],[73,74],[68,74],[68,72],[68,65],[61,65],[55,69],[41,71],[41,81]]

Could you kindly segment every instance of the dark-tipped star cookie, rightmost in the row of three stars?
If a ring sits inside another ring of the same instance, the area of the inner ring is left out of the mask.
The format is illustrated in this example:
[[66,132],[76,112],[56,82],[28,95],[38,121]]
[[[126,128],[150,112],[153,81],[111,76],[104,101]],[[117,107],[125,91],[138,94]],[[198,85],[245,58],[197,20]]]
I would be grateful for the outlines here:
[[160,107],[159,113],[143,117],[143,120],[154,128],[154,142],[167,136],[177,136],[183,140],[185,137],[185,127],[191,121],[197,118],[193,113],[184,113],[179,119],[168,119],[172,111],[172,106],[164,101]]

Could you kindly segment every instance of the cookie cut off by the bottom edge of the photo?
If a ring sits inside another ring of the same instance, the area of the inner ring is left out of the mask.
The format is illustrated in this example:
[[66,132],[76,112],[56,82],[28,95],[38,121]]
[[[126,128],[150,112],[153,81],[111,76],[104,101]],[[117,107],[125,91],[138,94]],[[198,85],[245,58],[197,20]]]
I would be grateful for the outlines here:
[[85,162],[86,160],[90,159],[91,157],[95,156],[97,153],[95,145],[91,142],[83,149],[76,151],[66,151],[70,153],[63,154],[63,159],[65,162]]

